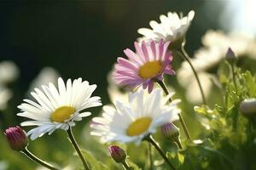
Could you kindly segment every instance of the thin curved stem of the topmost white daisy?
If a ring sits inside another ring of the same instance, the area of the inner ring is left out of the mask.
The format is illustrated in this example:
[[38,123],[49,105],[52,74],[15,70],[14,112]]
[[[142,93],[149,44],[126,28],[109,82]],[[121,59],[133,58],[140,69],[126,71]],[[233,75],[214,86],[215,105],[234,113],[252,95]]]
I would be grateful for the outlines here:
[[189,63],[189,65],[190,65],[190,67],[191,67],[191,69],[192,69],[192,71],[193,71],[193,73],[194,73],[194,75],[195,75],[196,82],[198,83],[198,86],[199,86],[199,88],[200,88],[201,98],[202,98],[202,100],[203,100],[203,104],[204,104],[204,105],[207,105],[207,99],[206,99],[205,94],[204,94],[204,91],[203,91],[203,89],[202,89],[202,87],[201,87],[201,82],[200,82],[200,80],[199,80],[198,74],[197,74],[197,72],[195,71],[195,67],[192,65],[191,59],[190,59],[190,57],[189,57],[189,54],[186,52],[184,46],[185,46],[185,42],[183,42],[183,44],[182,44],[182,46],[181,46],[181,52],[179,52],[179,51],[177,51],[177,52],[178,52],[178,54],[181,54],[181,56],[183,57],[183,59],[185,59],[185,60]]

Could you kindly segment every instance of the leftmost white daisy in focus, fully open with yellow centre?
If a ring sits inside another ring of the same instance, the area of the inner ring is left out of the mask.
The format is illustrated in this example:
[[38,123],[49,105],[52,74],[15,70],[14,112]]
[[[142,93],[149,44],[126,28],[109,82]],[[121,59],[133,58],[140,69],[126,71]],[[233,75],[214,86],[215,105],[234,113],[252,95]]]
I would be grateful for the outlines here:
[[58,89],[51,82],[42,88],[43,91],[35,88],[35,92],[31,93],[38,103],[24,99],[25,103],[18,106],[21,110],[18,116],[32,119],[20,125],[38,126],[27,133],[31,135],[31,139],[37,139],[44,133],[51,134],[57,128],[67,130],[75,126],[75,121],[90,116],[91,113],[84,112],[84,109],[102,105],[100,97],[91,97],[96,85],[89,85],[87,81],[82,82],[82,78],[73,82],[68,79],[66,85],[62,78],[59,78]]

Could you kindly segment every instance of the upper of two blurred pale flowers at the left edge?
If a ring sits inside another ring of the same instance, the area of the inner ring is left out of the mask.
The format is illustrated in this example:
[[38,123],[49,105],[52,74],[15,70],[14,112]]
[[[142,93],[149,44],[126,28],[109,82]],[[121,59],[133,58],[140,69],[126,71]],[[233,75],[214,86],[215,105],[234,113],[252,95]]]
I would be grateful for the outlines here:
[[0,83],[5,84],[9,82],[14,82],[19,76],[19,70],[15,63],[12,61],[2,61],[0,63]]

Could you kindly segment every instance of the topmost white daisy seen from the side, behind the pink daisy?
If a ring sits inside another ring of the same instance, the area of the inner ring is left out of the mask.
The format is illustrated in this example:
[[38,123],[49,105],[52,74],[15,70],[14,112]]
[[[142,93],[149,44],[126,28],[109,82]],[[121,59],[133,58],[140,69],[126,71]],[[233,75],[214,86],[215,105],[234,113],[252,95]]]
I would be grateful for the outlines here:
[[152,29],[140,28],[138,33],[143,37],[138,38],[139,42],[148,42],[152,39],[159,42],[160,39],[164,39],[165,42],[182,41],[183,36],[189,29],[189,26],[194,19],[195,11],[191,10],[185,17],[179,18],[177,13],[169,12],[167,15],[160,15],[160,23],[154,20],[149,22]]

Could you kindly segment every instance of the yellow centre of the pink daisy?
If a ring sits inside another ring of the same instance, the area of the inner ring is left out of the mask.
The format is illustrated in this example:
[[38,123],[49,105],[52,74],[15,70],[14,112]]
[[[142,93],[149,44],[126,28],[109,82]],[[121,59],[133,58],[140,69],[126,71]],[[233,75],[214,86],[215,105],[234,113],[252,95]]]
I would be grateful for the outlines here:
[[161,71],[160,61],[148,61],[139,69],[139,76],[142,78],[151,78],[158,75]]

